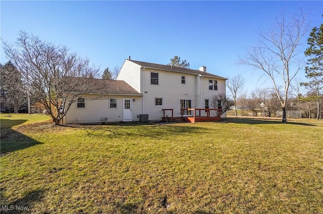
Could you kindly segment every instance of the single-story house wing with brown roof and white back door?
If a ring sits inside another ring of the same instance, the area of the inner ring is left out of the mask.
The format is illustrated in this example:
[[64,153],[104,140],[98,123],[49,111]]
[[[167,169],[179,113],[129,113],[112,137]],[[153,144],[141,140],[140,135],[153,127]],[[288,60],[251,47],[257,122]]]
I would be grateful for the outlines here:
[[105,123],[138,120],[142,95],[125,81],[94,80],[99,90],[80,95],[64,117],[64,123]]

